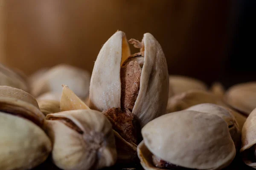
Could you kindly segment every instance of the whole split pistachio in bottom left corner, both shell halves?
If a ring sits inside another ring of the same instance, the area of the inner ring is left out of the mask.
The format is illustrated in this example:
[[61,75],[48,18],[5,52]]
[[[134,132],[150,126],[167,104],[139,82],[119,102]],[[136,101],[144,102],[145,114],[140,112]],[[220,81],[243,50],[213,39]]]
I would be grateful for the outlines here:
[[1,170],[28,170],[47,159],[52,145],[41,129],[44,118],[33,96],[0,86]]

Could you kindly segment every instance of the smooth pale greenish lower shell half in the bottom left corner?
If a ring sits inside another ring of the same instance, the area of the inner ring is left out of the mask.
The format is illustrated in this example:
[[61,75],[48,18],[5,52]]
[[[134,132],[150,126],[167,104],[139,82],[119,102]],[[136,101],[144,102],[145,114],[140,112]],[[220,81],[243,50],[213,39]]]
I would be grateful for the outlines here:
[[29,120],[0,112],[0,169],[28,170],[52,149],[44,131]]

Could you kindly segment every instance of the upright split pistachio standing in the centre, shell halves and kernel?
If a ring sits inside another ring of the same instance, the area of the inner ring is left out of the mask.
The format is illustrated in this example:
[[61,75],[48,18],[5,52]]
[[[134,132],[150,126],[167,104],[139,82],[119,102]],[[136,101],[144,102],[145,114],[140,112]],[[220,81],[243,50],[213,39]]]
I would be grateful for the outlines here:
[[113,34],[99,51],[90,82],[90,108],[127,108],[143,127],[166,112],[169,75],[163,50],[153,35],[146,33],[142,42],[129,42],[140,53],[130,54],[122,31]]

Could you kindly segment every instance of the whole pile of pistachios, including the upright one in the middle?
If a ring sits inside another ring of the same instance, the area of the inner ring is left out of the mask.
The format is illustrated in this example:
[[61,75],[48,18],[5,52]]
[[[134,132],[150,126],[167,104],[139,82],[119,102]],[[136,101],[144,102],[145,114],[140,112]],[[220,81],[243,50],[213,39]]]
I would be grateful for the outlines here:
[[238,154],[256,169],[255,108],[256,82],[226,91],[169,75],[152,34],[138,41],[117,31],[92,74],[60,64],[26,76],[0,65],[0,170],[48,157],[63,170],[221,170]]

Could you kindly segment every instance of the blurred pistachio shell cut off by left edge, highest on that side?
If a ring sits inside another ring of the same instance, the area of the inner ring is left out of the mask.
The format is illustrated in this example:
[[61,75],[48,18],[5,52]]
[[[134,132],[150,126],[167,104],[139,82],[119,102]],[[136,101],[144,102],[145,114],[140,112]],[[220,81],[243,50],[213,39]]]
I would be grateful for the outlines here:
[[0,85],[19,88],[27,92],[29,91],[26,80],[15,71],[12,71],[2,64],[0,64]]

